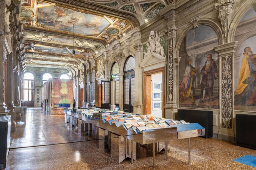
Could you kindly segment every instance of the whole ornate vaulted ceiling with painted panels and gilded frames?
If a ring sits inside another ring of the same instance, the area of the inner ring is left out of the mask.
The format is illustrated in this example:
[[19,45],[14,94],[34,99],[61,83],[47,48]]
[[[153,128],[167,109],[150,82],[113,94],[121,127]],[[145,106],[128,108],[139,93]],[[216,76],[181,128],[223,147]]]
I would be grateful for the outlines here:
[[23,64],[72,68],[88,60],[70,57],[73,48],[76,54],[97,53],[152,19],[169,3],[169,0],[21,0]]

